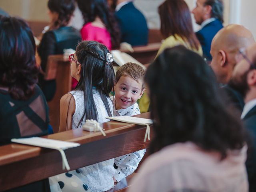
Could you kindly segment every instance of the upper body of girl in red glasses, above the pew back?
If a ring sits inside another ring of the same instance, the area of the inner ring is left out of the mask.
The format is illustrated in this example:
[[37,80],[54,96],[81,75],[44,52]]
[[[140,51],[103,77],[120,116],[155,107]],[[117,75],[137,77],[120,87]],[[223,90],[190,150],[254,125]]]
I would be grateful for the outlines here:
[[[113,104],[108,94],[114,86],[115,75],[108,61],[109,54],[103,44],[83,41],[78,44],[75,54],[70,56],[71,76],[78,81],[78,84],[74,91],[64,95],[60,100],[62,114],[59,132],[81,127],[86,119],[102,122],[106,121],[106,116],[112,115]],[[83,111],[79,114],[76,113],[78,100],[81,100],[79,108]],[[68,116],[65,115],[66,109]],[[102,111],[104,115],[101,114]]]

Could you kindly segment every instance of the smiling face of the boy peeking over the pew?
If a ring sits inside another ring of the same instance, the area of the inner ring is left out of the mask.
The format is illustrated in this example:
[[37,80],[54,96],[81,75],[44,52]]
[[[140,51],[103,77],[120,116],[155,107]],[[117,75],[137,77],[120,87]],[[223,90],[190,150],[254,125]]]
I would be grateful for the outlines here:
[[114,86],[116,96],[116,109],[126,109],[141,98],[145,89],[142,90],[142,79],[136,82],[129,76],[121,76]]

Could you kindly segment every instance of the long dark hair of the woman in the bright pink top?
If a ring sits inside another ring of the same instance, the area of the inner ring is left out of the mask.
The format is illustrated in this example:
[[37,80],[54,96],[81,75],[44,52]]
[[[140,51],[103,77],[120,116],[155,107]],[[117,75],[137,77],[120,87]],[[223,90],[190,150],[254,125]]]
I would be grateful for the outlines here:
[[84,23],[93,22],[96,17],[105,25],[111,36],[112,48],[120,46],[120,30],[114,12],[110,11],[107,0],[77,0],[81,10]]

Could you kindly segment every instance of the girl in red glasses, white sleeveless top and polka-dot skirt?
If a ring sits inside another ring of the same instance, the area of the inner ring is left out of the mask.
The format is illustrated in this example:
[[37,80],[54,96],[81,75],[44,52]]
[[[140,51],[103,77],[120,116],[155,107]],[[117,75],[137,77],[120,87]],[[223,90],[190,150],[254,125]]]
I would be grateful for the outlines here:
[[[70,55],[71,76],[78,80],[74,91],[60,100],[59,132],[80,128],[86,119],[100,123],[113,116],[109,93],[114,86],[113,58],[103,44],[83,41]],[[114,185],[114,159],[50,178],[52,191],[106,191]]]

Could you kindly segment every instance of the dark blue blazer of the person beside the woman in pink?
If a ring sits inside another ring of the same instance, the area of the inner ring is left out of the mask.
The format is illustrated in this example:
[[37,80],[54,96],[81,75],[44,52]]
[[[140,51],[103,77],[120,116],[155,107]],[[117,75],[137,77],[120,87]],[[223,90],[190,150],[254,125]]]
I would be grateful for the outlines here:
[[132,46],[148,44],[148,26],[144,15],[132,2],[115,13],[121,30],[121,42]]

